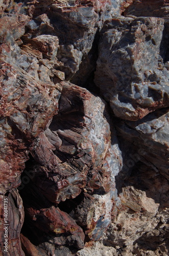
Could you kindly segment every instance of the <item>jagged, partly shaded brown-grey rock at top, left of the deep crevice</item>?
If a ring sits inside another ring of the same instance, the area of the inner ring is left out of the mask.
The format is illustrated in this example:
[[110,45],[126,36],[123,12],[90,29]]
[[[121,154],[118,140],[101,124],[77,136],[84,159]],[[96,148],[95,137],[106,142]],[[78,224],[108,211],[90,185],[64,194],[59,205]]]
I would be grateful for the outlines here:
[[43,3],[43,11],[41,2],[32,4],[34,6],[27,7],[33,19],[26,25],[21,49],[38,58],[43,55],[49,59],[46,42],[42,46],[42,41],[49,41],[52,55],[52,40],[56,37],[58,45],[51,56],[53,67],[70,79],[78,71],[83,55],[90,51],[96,31],[110,16],[110,1],[49,1]]

